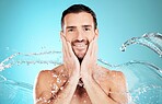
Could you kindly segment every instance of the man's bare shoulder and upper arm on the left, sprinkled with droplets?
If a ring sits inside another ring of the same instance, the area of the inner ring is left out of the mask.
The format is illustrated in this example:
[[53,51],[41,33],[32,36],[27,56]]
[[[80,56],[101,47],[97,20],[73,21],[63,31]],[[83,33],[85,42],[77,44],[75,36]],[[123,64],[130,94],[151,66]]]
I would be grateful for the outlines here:
[[53,70],[42,70],[38,73],[34,86],[34,102],[49,100],[51,97],[51,91],[54,90],[54,86],[59,89],[63,84],[63,81],[60,80],[66,80],[66,78],[59,78],[59,74],[62,73],[61,69],[63,69],[63,67],[58,66]]

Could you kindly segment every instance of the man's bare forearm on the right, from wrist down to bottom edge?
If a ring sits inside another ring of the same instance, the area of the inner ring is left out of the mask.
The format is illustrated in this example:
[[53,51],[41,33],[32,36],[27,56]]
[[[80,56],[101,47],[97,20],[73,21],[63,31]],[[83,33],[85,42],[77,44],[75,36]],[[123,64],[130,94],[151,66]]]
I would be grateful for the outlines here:
[[84,78],[83,83],[92,104],[117,104],[103,91],[93,77]]

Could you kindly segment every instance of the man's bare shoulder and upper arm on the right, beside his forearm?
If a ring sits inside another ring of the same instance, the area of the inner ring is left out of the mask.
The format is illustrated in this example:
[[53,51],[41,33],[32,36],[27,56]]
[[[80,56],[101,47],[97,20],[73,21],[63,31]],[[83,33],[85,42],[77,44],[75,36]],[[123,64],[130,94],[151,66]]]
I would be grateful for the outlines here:
[[109,70],[101,68],[106,76],[104,77],[104,83],[107,86],[108,95],[119,104],[127,104],[127,83],[125,74],[121,71]]

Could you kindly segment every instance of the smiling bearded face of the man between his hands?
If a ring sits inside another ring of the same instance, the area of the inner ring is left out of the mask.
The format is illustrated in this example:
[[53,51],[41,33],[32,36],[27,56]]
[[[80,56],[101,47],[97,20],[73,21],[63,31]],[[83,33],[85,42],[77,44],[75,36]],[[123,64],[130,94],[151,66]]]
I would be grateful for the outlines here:
[[71,43],[76,56],[82,59],[88,51],[89,44],[99,33],[94,30],[93,18],[86,12],[69,13],[63,22],[61,34]]

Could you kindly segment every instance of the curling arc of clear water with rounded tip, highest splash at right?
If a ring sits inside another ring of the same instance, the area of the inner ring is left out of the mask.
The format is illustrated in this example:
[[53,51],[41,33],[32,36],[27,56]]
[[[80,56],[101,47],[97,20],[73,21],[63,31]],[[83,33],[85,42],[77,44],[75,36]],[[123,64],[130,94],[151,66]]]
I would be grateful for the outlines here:
[[147,46],[148,48],[157,53],[160,57],[162,57],[162,34],[160,33],[149,33],[144,34],[141,37],[132,37],[123,44],[120,50],[125,51],[126,47],[131,44]]

